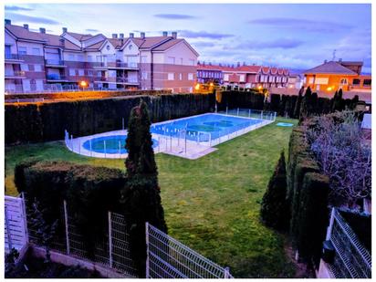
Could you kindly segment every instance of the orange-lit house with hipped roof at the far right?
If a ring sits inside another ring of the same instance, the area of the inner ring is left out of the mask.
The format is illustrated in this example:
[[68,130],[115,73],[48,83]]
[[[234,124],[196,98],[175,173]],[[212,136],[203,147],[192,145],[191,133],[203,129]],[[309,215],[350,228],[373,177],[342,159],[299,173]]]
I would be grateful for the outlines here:
[[304,72],[305,87],[333,93],[344,91],[371,92],[371,76],[361,75],[362,62],[327,61]]

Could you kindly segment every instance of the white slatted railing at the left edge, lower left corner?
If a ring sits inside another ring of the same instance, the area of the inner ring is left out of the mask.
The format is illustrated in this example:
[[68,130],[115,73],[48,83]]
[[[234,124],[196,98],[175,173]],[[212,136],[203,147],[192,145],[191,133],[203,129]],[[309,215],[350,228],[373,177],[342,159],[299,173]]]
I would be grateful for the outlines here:
[[20,251],[27,241],[24,200],[5,196],[5,252],[12,248]]

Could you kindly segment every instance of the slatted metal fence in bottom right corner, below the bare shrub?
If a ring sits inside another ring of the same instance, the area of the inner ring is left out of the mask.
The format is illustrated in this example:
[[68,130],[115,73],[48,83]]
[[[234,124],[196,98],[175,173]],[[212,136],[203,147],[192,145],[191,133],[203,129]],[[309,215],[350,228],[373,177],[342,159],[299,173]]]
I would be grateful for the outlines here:
[[327,240],[335,248],[330,270],[336,278],[371,278],[371,255],[336,208],[331,211]]

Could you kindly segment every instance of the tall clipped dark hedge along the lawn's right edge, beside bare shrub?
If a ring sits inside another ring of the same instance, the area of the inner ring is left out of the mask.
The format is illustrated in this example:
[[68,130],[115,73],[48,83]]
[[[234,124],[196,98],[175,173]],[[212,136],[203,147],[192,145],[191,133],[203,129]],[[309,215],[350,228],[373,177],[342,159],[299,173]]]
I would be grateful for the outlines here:
[[299,255],[319,263],[329,220],[329,178],[319,170],[304,138],[304,128],[291,134],[287,162],[287,198],[291,204],[290,234]]

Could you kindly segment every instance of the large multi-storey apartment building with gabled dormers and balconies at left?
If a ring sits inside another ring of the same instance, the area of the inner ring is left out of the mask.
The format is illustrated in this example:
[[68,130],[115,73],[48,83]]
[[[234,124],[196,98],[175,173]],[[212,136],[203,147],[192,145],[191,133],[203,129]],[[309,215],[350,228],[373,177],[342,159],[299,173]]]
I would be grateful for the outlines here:
[[176,32],[112,37],[68,31],[47,34],[5,20],[5,91],[69,89],[85,81],[99,89],[193,92],[199,54]]

